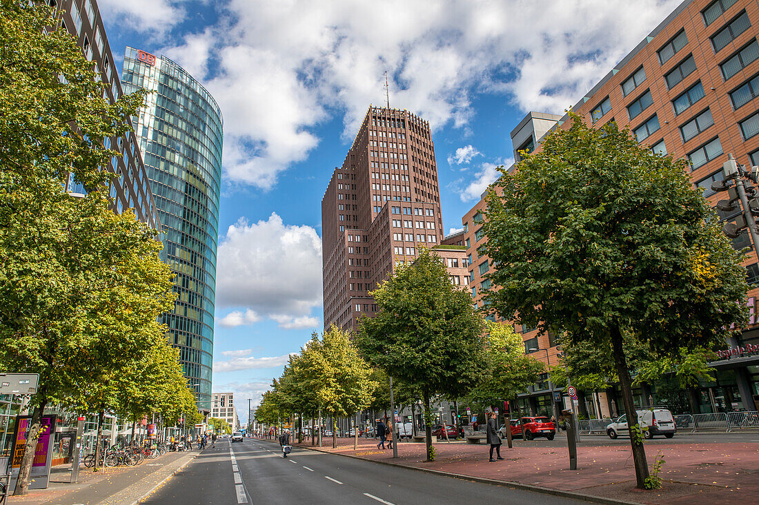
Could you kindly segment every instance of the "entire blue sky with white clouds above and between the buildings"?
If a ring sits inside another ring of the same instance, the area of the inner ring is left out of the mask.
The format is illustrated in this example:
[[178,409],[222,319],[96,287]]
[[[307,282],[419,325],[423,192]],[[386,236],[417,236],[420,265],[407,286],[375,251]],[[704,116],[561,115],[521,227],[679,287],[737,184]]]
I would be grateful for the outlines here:
[[446,233],[528,111],[578,102],[679,0],[99,0],[115,60],[167,55],[224,115],[213,391],[254,403],[323,327],[321,199],[370,103],[433,127]]

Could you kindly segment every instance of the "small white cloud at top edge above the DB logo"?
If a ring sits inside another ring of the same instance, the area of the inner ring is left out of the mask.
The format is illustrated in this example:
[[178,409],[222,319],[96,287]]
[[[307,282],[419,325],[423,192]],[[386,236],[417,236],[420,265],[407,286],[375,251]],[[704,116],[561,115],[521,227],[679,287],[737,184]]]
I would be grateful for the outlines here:
[[[100,15],[134,30],[165,32],[184,19],[177,0],[98,0]],[[82,13],[82,15],[84,15]]]

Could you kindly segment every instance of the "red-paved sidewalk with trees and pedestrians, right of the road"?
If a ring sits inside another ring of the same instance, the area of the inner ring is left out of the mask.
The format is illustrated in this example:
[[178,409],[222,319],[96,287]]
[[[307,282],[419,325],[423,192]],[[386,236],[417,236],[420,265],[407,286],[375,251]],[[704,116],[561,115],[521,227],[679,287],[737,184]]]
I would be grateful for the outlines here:
[[[310,439],[301,447],[312,447]],[[501,446],[504,461],[488,462],[486,445],[438,441],[436,460],[426,463],[424,444],[403,442],[398,445],[398,459],[392,450],[377,450],[376,441],[361,438],[357,450],[352,438],[338,439],[332,449],[332,438],[323,440],[330,453],[358,456],[367,460],[394,463],[417,469],[430,469],[448,474],[496,479],[518,485],[532,485],[559,491],[570,491],[593,497],[633,503],[720,505],[742,500],[753,503],[759,495],[759,442],[733,444],[657,444],[647,446],[649,466],[658,453],[666,463],[660,477],[663,488],[640,491],[635,488],[635,468],[630,447],[578,446],[578,469],[569,470],[566,447],[541,447],[541,441],[515,441],[509,449]]]

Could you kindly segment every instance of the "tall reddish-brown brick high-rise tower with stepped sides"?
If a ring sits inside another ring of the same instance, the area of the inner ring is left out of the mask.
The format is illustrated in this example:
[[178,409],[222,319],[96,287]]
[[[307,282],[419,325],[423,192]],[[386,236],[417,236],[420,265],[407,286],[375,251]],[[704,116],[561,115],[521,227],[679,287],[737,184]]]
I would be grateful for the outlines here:
[[442,232],[430,124],[370,107],[322,199],[325,328],[355,330],[376,312],[369,291]]

